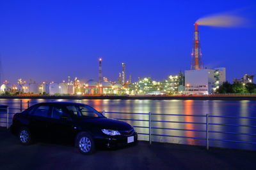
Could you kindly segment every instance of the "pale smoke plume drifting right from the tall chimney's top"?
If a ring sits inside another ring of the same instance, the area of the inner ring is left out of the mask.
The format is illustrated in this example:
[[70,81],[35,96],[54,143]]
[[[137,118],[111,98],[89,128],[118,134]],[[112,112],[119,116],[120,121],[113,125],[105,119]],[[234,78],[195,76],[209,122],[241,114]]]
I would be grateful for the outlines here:
[[248,21],[246,18],[235,15],[234,13],[219,13],[209,15],[196,20],[199,25],[214,26],[214,27],[246,27]]

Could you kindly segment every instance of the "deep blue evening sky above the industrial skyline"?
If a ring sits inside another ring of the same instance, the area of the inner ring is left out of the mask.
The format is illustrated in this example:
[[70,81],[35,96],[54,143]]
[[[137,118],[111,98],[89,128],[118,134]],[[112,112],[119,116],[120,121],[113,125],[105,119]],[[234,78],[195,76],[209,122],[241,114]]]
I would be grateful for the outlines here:
[[[250,27],[200,26],[205,67],[226,67],[227,79],[255,74],[256,1],[0,1],[1,74],[61,81],[115,81],[127,65],[132,80],[155,80],[190,69],[195,21],[240,10]],[[241,10],[242,9],[242,10]],[[128,78],[128,76],[127,76]]]

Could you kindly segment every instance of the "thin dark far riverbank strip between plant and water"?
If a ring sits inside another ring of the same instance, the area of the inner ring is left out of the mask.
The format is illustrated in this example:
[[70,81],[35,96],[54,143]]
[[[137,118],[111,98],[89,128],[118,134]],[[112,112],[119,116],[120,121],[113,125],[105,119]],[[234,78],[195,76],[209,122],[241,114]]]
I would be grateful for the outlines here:
[[256,96],[0,96],[0,99],[256,100]]

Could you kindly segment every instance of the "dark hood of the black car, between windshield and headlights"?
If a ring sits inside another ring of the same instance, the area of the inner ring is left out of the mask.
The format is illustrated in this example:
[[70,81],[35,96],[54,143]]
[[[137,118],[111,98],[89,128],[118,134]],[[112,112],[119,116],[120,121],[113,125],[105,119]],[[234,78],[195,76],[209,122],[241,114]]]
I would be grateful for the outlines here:
[[116,131],[128,131],[132,128],[126,122],[115,120],[112,118],[88,118],[79,120],[81,125],[93,126],[99,129],[111,129]]

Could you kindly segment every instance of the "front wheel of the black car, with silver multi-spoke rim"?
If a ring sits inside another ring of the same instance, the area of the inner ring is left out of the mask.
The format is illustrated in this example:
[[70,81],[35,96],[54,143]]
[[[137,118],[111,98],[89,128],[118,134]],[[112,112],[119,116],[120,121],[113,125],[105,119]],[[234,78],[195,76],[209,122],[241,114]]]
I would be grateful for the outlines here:
[[91,155],[95,152],[95,143],[88,132],[79,132],[76,137],[76,146],[80,153]]

